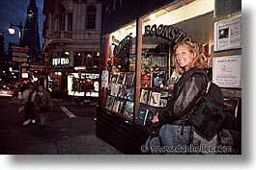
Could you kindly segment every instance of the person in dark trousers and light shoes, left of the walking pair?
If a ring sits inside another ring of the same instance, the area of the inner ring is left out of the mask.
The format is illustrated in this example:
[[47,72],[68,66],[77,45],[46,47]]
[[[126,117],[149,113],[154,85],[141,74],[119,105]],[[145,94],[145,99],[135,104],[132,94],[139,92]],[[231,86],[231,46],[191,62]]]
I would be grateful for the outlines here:
[[33,83],[29,83],[27,89],[22,92],[22,105],[24,106],[24,122],[22,126],[36,123],[36,113],[34,110],[34,99],[37,90]]

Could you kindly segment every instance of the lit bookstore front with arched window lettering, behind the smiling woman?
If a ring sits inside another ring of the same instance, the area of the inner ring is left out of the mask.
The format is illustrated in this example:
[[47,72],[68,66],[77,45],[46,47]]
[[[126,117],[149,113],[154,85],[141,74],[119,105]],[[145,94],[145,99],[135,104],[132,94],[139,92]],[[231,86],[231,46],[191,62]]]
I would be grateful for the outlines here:
[[[141,154],[148,137],[141,112],[164,108],[172,97],[174,47],[183,40],[200,45],[209,77],[223,87],[227,100],[241,103],[241,8],[217,16],[217,3],[221,1],[104,1],[98,137],[125,154]],[[220,37],[227,29],[236,34],[229,47],[227,37]],[[218,72],[224,66],[228,74]],[[151,96],[158,100],[151,102]],[[236,114],[241,115],[238,105]]]

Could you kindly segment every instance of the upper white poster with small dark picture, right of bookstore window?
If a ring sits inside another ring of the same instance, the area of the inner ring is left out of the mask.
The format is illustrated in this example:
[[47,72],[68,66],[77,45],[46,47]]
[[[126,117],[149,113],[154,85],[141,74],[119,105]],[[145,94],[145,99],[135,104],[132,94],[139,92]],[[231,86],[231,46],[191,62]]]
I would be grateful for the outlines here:
[[242,48],[241,17],[214,23],[214,51]]

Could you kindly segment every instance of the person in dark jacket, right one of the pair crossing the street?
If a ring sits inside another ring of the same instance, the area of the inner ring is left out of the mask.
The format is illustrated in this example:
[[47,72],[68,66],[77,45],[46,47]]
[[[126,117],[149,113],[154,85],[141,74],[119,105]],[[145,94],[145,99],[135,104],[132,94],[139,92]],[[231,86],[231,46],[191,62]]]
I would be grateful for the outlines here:
[[35,97],[35,109],[39,117],[40,127],[44,127],[47,123],[47,114],[52,108],[53,103],[49,93],[43,89],[43,85],[39,85],[38,93]]

